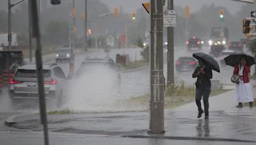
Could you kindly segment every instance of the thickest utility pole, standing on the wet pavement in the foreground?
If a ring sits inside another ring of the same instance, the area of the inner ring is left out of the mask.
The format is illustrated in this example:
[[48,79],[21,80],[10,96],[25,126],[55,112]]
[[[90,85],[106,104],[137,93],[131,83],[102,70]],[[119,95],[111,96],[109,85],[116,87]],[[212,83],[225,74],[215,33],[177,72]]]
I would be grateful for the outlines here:
[[163,1],[150,0],[149,132],[164,132]]

